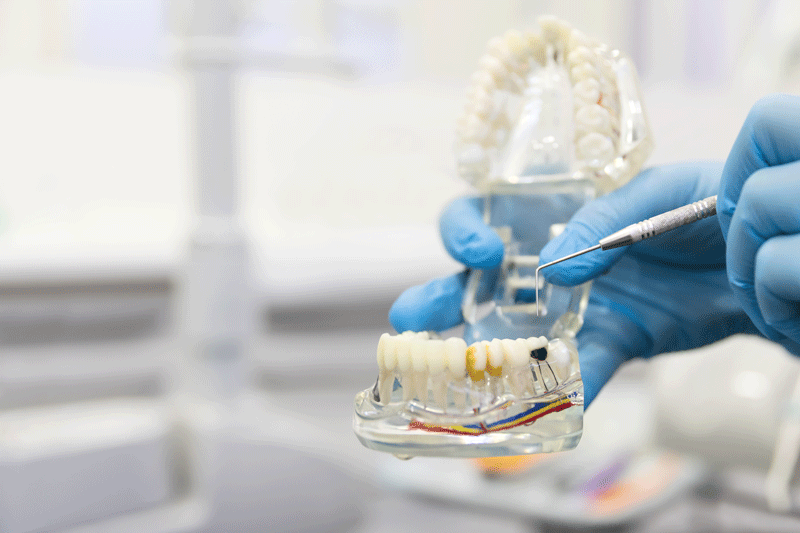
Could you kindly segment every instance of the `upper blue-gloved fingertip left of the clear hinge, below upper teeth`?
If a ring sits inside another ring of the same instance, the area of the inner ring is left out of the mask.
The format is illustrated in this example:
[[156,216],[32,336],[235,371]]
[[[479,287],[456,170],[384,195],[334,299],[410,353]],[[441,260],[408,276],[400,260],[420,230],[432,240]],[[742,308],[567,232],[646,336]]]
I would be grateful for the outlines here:
[[458,198],[439,219],[447,252],[470,268],[487,269],[503,261],[503,241],[483,221],[481,198]]

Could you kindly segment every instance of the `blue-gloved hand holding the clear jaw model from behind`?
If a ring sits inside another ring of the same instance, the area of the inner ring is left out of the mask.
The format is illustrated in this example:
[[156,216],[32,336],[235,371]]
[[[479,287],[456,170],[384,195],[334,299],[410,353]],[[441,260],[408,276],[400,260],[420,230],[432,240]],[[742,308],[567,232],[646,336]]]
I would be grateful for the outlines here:
[[[715,163],[646,170],[580,209],[564,233],[542,250],[540,260],[546,263],[587,248],[628,224],[712,196],[721,172],[722,166]],[[535,214],[530,223],[536,223]],[[441,234],[448,252],[467,267],[491,268],[502,260],[502,243],[484,224],[476,199],[453,202],[442,215]],[[714,218],[627,248],[594,251],[542,274],[551,283],[575,285],[609,268],[595,281],[577,337],[586,405],[632,357],[756,331],[728,285],[725,241]],[[465,281],[462,272],[408,289],[395,302],[389,320],[398,331],[456,326],[462,319]]]

